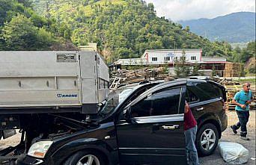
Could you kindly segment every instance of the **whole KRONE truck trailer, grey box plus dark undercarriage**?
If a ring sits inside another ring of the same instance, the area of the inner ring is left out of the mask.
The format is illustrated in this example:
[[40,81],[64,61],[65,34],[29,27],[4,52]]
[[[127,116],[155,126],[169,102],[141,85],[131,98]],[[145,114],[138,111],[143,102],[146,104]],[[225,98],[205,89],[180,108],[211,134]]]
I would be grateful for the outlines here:
[[22,133],[21,143],[0,151],[0,159],[90,122],[108,93],[109,67],[95,51],[0,52],[0,140],[13,129]]

